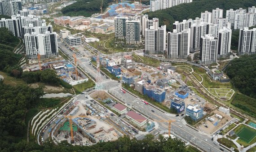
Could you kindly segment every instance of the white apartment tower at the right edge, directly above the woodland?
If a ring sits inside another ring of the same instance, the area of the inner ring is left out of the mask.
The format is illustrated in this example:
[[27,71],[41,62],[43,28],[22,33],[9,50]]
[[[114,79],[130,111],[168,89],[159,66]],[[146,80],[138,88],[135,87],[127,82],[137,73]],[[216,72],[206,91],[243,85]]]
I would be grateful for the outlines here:
[[251,55],[256,53],[256,28],[249,30],[244,27],[239,31],[238,54]]

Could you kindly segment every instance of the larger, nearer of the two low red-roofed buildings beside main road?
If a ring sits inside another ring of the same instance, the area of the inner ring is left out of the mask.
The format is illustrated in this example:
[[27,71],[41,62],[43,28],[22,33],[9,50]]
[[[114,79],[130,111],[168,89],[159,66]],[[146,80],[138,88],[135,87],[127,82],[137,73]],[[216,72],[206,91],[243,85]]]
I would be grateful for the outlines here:
[[126,117],[130,119],[135,125],[143,127],[146,125],[147,119],[134,111],[129,111]]

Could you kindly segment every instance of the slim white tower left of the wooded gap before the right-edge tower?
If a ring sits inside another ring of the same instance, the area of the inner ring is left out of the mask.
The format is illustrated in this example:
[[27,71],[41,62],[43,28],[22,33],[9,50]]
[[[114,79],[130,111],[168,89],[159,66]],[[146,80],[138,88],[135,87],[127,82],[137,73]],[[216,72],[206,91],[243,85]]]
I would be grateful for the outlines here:
[[232,30],[224,27],[219,31],[217,57],[225,57],[230,54]]

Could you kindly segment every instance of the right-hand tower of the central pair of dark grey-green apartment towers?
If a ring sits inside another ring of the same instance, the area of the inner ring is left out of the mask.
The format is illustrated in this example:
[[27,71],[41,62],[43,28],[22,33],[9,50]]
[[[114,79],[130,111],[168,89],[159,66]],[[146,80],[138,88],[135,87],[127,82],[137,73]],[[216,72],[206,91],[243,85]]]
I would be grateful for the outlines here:
[[139,44],[141,42],[140,21],[125,21],[126,26],[126,43]]

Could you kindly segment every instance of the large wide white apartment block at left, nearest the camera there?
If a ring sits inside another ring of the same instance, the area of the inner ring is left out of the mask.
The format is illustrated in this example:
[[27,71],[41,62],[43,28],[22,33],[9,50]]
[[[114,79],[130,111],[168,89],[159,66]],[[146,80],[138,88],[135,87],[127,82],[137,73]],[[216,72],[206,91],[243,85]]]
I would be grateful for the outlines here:
[[26,56],[30,59],[37,59],[37,53],[40,53],[41,58],[50,58],[58,55],[58,44],[56,32],[24,35],[26,46]]

